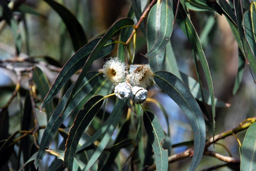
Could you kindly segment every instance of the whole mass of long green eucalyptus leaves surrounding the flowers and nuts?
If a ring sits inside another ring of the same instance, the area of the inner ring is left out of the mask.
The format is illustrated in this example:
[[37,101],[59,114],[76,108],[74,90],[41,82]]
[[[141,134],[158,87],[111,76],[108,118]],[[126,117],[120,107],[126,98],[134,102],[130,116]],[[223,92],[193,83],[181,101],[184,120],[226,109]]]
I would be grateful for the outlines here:
[[[254,57],[256,53],[254,33],[256,28],[254,25],[256,24],[254,23],[256,22],[253,20],[256,17],[256,3],[250,3],[249,0],[234,0],[230,3],[226,1],[210,2],[208,0],[173,0],[172,2],[170,0],[152,0],[151,2],[131,0],[131,8],[127,17],[117,20],[102,37],[87,42],[80,23],[66,7],[54,0],[44,1],[59,14],[65,23],[72,40],[73,50],[76,53],[59,69],[57,78],[49,88],[47,77],[40,69],[41,61],[29,57],[19,57],[22,43],[18,23],[14,17],[15,12],[21,14],[26,12],[35,14],[36,12],[24,6],[22,0],[11,1],[9,4],[0,1],[2,6],[1,17],[3,21],[9,24],[16,47],[15,58],[2,60],[0,67],[15,71],[18,76],[23,73],[29,75],[29,90],[24,90],[26,92],[24,103],[22,104],[20,98],[23,95],[20,90],[19,79],[12,97],[0,109],[0,156],[8,154],[4,159],[1,159],[0,167],[9,169],[8,161],[11,160],[11,154],[15,152],[15,146],[17,146],[19,150],[16,167],[19,170],[23,168],[28,170],[28,164],[31,162],[34,162],[35,168],[38,168],[40,160],[48,153],[56,156],[48,170],[53,168],[63,170],[63,164],[69,171],[120,170],[124,166],[129,167],[129,165],[131,165],[132,170],[134,165],[137,166],[138,170],[141,170],[146,169],[145,165],[154,165],[155,163],[157,171],[167,171],[169,162],[172,161],[172,157],[169,157],[172,145],[169,142],[169,133],[165,135],[157,117],[152,112],[145,110],[143,105],[134,105],[130,100],[122,101],[120,99],[113,101],[113,110],[111,113],[107,113],[108,103],[106,101],[111,98],[108,94],[113,91],[113,86],[103,80],[102,72],[89,72],[93,61],[110,54],[116,43],[118,43],[118,58],[125,61],[128,66],[133,64],[137,30],[141,29],[148,48],[148,52],[143,56],[148,58],[151,70],[154,72],[154,84],[157,84],[179,105],[191,125],[194,148],[193,153],[190,154],[192,162],[188,170],[195,170],[201,162],[203,154],[207,154],[207,148],[209,147],[205,148],[206,126],[197,100],[212,106],[212,130],[215,130],[215,107],[227,107],[227,104],[214,97],[209,66],[201,41],[190,20],[189,9],[209,12],[211,14],[209,19],[215,13],[226,16],[241,52],[239,53],[238,74],[233,89],[235,95],[241,83],[246,61],[248,65],[250,64],[251,72],[256,73],[256,59]],[[146,26],[144,26],[143,19],[146,15],[147,21],[145,22]],[[177,23],[191,43],[195,61],[199,59],[201,62],[209,93],[200,84],[197,62],[195,62],[195,66],[199,82],[179,72],[170,43],[174,23]],[[208,22],[205,27],[209,26],[212,26],[212,23]],[[119,35],[119,40],[115,40],[116,35]],[[131,52],[132,38],[134,38],[133,53]],[[26,65],[25,67],[14,65],[11,68],[8,67],[9,64],[13,63],[24,63]],[[51,65],[47,64],[47,66]],[[70,85],[70,78],[77,72],[79,72],[77,80]],[[34,90],[34,84],[37,87],[38,94]],[[63,91],[64,95],[60,96],[58,105],[54,107],[52,101],[60,91]],[[16,95],[18,96],[22,118],[21,128],[9,136],[8,107]],[[41,99],[38,98],[38,95]],[[106,105],[103,105],[104,102]],[[160,103],[155,103],[163,109]],[[40,112],[46,113],[47,125],[38,123],[38,112],[35,110],[38,105],[41,105]],[[67,126],[64,122],[68,118],[71,119]],[[168,117],[166,119],[168,121]],[[255,119],[253,122],[255,122]],[[247,130],[241,148],[241,170],[246,171],[256,167],[256,159],[253,156],[256,151],[255,124],[253,122],[251,122],[251,126],[249,125],[250,128]],[[148,136],[145,149],[143,148],[143,137],[145,136],[143,125]],[[237,132],[249,126],[241,127]],[[88,132],[92,128],[95,132],[92,136],[89,136]],[[44,129],[44,132],[38,136],[41,129]],[[117,130],[116,138],[113,138],[112,135],[115,130]],[[60,145],[58,148],[49,149],[51,143],[57,142],[58,144],[59,138],[55,136],[58,133],[62,136]],[[17,136],[19,134],[21,135]],[[166,136],[167,138],[165,138]],[[211,141],[215,141],[214,131]],[[162,142],[169,144],[168,149],[163,148]],[[107,146],[109,148],[106,148]],[[122,153],[119,152],[121,148],[131,151],[130,155],[125,158],[125,160],[130,161],[130,164],[126,164],[127,161],[120,162],[120,158],[123,157]],[[152,149],[154,155],[148,154],[145,157],[144,154],[150,153]],[[23,154],[23,157],[21,157],[21,154]],[[154,163],[148,161],[148,157],[153,156]],[[23,165],[19,167],[21,158],[23,158]],[[34,169],[33,167],[34,165],[31,169]],[[148,169],[154,170],[154,167]]]

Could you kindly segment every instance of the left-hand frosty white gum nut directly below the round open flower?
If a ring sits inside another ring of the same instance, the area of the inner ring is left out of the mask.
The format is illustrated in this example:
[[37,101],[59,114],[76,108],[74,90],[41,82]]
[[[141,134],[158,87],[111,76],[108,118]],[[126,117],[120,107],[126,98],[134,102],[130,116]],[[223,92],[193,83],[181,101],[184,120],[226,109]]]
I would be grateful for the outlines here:
[[126,100],[131,96],[131,85],[129,83],[119,83],[115,87],[115,94],[119,99]]

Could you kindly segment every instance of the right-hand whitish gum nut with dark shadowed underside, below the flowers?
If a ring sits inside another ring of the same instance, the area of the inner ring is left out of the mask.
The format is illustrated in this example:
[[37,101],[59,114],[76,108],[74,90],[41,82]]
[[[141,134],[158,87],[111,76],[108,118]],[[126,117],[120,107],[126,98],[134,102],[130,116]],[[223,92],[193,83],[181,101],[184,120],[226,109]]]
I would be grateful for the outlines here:
[[131,100],[135,104],[142,104],[148,97],[148,91],[145,90],[142,87],[133,87],[132,88],[132,95],[131,95]]

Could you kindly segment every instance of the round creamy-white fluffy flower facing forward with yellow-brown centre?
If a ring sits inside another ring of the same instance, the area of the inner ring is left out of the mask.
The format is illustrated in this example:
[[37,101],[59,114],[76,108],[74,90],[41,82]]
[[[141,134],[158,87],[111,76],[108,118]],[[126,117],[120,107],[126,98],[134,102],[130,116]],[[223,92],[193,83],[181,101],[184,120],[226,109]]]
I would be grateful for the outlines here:
[[125,80],[127,75],[125,63],[121,63],[119,58],[110,58],[103,65],[103,76],[107,81],[111,81],[113,84],[118,84]]

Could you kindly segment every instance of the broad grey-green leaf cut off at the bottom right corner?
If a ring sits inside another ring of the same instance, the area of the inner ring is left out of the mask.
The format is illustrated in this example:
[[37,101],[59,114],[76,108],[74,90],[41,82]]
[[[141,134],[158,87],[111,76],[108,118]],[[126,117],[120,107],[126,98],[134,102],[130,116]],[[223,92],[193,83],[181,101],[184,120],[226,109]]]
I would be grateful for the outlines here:
[[242,146],[241,171],[253,171],[256,169],[256,123],[247,130]]

